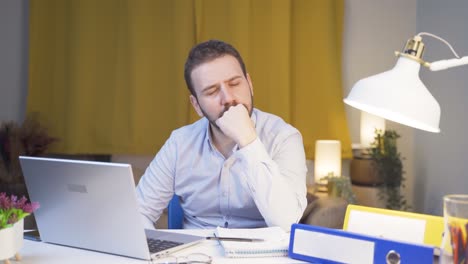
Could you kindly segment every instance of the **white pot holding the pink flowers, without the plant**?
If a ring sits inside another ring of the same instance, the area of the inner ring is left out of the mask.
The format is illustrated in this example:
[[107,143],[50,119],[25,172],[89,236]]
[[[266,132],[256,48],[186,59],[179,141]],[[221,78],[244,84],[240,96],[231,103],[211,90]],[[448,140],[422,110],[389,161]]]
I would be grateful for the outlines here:
[[12,227],[0,229],[0,261],[15,256],[19,260],[19,250],[23,246],[23,219],[16,222]]

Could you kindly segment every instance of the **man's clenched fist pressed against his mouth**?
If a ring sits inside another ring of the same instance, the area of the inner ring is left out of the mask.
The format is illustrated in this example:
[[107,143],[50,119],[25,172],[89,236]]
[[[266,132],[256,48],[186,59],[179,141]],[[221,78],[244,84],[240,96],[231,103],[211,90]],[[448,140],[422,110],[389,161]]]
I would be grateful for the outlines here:
[[238,104],[231,106],[223,116],[216,120],[216,125],[223,133],[232,138],[242,148],[257,138],[257,132],[247,108]]

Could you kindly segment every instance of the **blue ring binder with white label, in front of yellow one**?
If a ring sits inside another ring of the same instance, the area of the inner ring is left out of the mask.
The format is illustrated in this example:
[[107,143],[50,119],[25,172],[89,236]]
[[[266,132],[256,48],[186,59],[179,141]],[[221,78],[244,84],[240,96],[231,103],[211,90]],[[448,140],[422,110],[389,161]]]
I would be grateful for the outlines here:
[[434,248],[304,224],[293,224],[289,257],[312,263],[433,263]]

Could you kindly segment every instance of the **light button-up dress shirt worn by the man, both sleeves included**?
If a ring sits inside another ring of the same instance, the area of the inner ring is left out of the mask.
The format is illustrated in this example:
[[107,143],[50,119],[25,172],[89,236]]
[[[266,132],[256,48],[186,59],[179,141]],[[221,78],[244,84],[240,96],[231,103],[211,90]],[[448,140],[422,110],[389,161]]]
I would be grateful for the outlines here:
[[306,207],[304,146],[297,129],[254,109],[257,139],[225,158],[211,140],[209,122],[174,130],[137,186],[146,228],[174,194],[184,228],[291,228]]

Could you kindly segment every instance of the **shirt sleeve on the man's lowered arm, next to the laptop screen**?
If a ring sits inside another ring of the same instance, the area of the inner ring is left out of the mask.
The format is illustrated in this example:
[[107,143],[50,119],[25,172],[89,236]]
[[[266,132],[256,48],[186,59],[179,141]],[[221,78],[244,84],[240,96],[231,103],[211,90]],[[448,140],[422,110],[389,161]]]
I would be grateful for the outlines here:
[[147,229],[154,229],[154,223],[174,195],[176,153],[175,142],[173,138],[169,138],[136,187],[139,211]]

